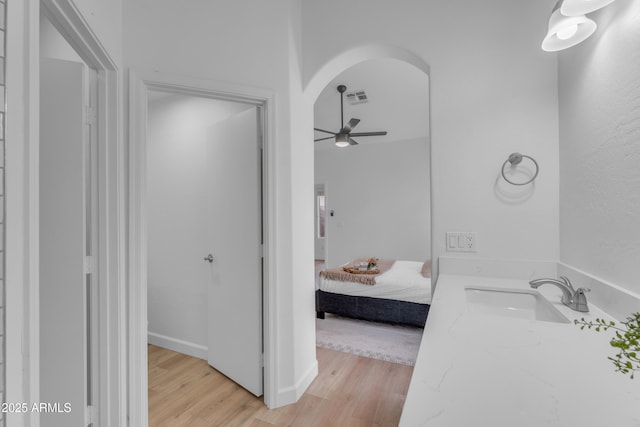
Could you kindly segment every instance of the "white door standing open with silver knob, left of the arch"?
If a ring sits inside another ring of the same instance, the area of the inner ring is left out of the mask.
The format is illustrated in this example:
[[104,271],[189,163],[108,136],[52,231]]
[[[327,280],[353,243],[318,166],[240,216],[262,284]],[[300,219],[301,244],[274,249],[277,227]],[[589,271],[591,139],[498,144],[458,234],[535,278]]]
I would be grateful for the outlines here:
[[251,108],[210,130],[208,223],[212,262],[208,361],[262,395],[262,155],[258,110]]

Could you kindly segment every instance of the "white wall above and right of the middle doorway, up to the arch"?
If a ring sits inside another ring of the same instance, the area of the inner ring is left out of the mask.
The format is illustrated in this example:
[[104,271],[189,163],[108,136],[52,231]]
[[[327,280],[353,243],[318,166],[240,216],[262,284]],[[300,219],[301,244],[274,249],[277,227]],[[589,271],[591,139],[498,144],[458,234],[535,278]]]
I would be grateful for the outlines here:
[[[293,0],[131,0],[124,3],[124,57],[134,71],[159,72],[270,90],[273,138],[268,200],[269,295],[275,295],[275,389],[270,406],[295,401],[317,369],[314,336],[313,144],[293,138],[313,127],[300,108],[299,4]],[[293,162],[293,158],[301,159]],[[307,160],[308,159],[308,160]],[[303,236],[308,236],[307,238]],[[273,338],[273,337],[271,337]],[[267,356],[269,357],[269,356]],[[269,384],[267,384],[269,386]]]

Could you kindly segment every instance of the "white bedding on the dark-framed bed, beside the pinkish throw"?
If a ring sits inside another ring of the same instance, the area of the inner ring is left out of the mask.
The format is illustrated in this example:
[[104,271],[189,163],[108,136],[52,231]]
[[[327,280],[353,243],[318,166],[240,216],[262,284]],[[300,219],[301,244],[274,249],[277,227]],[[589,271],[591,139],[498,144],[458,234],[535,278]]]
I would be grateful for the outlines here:
[[422,275],[422,264],[418,261],[396,261],[387,272],[376,277],[373,286],[328,280],[322,276],[319,286],[322,291],[335,294],[431,304],[431,278]]

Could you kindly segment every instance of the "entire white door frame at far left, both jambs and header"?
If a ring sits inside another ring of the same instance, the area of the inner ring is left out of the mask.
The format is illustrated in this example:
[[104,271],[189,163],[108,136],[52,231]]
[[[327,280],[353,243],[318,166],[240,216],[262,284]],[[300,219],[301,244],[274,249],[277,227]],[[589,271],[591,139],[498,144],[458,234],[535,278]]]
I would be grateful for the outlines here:
[[[24,0],[7,11],[8,156],[15,167],[7,171],[6,218],[12,224],[6,251],[7,401],[40,401],[40,295],[39,295],[39,26],[42,9],[87,66],[98,73],[97,135],[99,240],[96,254],[100,287],[100,331],[102,354],[99,362],[100,425],[126,423],[126,366],[121,365],[126,333],[124,275],[120,259],[124,251],[121,213],[122,139],[119,133],[118,69],[101,41],[73,0]],[[12,24],[16,24],[15,27]],[[20,49],[20,50],[18,50]],[[19,54],[18,52],[22,52]],[[15,56],[12,56],[14,55]],[[23,99],[19,99],[22,96]],[[12,164],[13,166],[13,164]],[[15,228],[13,228],[15,226]],[[11,282],[13,286],[10,285]],[[13,396],[13,397],[12,397]],[[124,406],[123,406],[124,403]],[[37,412],[8,414],[9,422],[40,425]]]

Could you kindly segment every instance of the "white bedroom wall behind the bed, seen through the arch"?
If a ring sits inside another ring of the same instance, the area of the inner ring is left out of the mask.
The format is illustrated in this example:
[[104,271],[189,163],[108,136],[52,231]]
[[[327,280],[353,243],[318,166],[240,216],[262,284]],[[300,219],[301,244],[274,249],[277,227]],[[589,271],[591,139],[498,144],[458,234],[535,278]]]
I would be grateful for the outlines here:
[[317,148],[316,183],[327,184],[327,265],[357,257],[428,259],[429,164],[426,138]]

